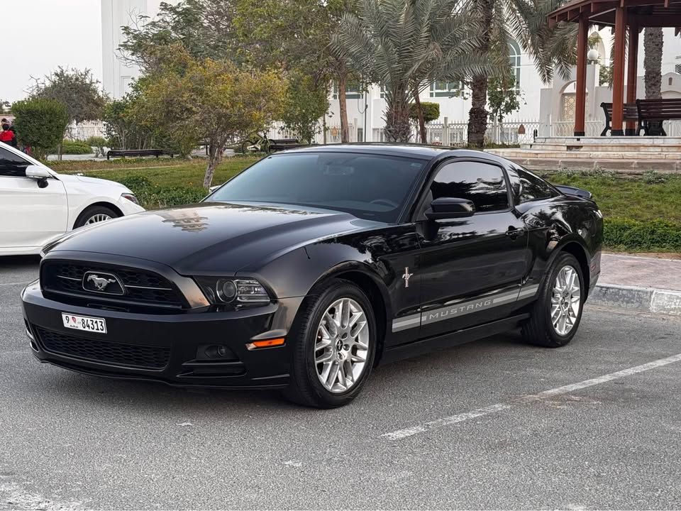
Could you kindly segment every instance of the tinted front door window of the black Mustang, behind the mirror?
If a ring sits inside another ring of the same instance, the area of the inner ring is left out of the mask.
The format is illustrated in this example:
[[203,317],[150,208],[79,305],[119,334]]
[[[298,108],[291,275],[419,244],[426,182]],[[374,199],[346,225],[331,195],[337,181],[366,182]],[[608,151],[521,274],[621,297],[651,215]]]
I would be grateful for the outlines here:
[[438,170],[431,185],[433,199],[456,197],[475,204],[475,211],[508,209],[509,196],[501,167],[480,162],[456,162]]

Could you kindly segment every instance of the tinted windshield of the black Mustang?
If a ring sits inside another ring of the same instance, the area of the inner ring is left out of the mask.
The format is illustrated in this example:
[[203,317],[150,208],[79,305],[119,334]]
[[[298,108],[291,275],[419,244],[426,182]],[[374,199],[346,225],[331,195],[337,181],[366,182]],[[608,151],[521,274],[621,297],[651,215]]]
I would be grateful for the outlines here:
[[272,155],[206,201],[295,204],[394,222],[425,164],[416,158],[358,153]]

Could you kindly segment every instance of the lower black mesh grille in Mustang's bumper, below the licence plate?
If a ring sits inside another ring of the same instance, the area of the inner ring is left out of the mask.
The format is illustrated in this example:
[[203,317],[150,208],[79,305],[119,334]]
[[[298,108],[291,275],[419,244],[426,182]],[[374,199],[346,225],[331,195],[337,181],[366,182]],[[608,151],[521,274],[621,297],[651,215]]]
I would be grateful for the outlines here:
[[40,327],[36,327],[35,331],[38,331],[43,349],[55,355],[139,369],[162,369],[170,359],[170,348],[162,346],[84,339]]

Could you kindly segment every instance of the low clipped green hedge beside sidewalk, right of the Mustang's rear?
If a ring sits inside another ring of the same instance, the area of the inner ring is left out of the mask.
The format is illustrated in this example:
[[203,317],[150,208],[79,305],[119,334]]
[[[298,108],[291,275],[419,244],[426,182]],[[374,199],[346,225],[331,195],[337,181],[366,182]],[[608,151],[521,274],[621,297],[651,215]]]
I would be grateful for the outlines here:
[[606,218],[603,243],[609,248],[627,251],[681,251],[681,224]]

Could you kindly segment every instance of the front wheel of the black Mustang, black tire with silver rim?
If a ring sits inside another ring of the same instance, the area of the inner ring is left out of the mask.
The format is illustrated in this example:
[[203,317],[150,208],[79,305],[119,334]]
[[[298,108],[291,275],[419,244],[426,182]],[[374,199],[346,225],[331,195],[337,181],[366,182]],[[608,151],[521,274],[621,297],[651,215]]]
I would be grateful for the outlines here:
[[[336,307],[339,302],[341,304]],[[339,327],[335,323],[336,314],[342,310],[350,312],[347,318],[341,318]],[[364,314],[364,324],[360,312]],[[326,316],[326,313],[329,315]],[[353,318],[357,318],[357,323],[347,329]],[[329,323],[332,320],[333,324]],[[347,405],[357,397],[371,373],[376,353],[376,331],[373,309],[360,287],[339,279],[317,285],[301,305],[289,336],[292,341],[291,383],[284,395],[299,405],[309,407]],[[360,368],[361,358],[364,362]],[[316,363],[316,360],[326,361]],[[336,373],[335,367],[338,367]],[[341,372],[348,378],[343,380],[339,376]],[[354,374],[350,377],[351,372]],[[341,384],[341,380],[346,385]]]

